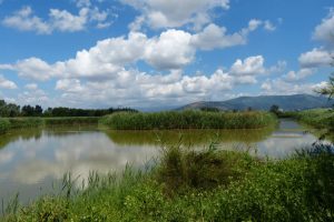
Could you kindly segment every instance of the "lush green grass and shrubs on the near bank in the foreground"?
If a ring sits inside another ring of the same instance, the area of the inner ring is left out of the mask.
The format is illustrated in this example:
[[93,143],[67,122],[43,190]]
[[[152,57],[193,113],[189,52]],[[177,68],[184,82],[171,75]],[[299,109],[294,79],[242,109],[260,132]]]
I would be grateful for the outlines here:
[[165,149],[148,171],[91,174],[76,191],[31,205],[10,204],[3,221],[333,221],[333,148],[315,145],[287,160],[247,153]]

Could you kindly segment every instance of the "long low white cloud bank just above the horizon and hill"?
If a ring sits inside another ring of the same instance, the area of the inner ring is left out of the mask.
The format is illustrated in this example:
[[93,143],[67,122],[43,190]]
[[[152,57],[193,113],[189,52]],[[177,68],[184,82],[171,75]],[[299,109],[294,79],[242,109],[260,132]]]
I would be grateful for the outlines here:
[[[254,58],[244,61],[250,61]],[[264,67],[262,69],[266,70]],[[72,105],[80,105],[85,101],[106,104],[106,101],[111,101],[114,105],[147,107],[153,103],[156,105],[180,104],[217,98],[217,94],[228,94],[236,85],[257,82],[257,72],[247,71],[246,75],[236,75],[232,74],[230,70],[217,69],[212,74],[197,75],[185,74],[180,70],[171,70],[168,74],[122,70],[112,80],[60,79],[57,81],[56,90],[61,92],[60,100],[66,104],[70,102]]]

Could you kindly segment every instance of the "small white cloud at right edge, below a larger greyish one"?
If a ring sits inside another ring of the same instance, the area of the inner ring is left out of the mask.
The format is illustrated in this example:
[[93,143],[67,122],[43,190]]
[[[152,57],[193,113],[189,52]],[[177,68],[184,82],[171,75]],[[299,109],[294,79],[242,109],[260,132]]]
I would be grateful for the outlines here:
[[328,67],[334,62],[334,54],[326,50],[314,48],[312,51],[302,53],[298,61],[303,68]]

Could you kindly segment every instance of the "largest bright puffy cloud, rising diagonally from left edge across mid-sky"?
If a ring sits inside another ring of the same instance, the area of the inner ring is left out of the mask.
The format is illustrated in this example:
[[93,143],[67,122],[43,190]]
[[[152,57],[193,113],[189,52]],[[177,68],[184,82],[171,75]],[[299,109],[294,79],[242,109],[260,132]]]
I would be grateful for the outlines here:
[[[209,24],[197,34],[168,29],[159,36],[148,38],[141,32],[129,32],[127,37],[98,41],[95,47],[78,51],[75,58],[53,64],[39,58],[28,58],[16,64],[0,64],[0,69],[14,70],[20,77],[40,81],[50,78],[112,79],[126,65],[135,64],[139,60],[157,70],[177,70],[191,63],[197,50],[244,44],[247,33],[256,27],[255,20],[252,20],[247,28],[234,34],[226,34],[226,28],[216,24]],[[257,62],[263,62],[263,59],[257,59]],[[245,62],[245,65],[255,65],[252,63],[254,61]]]

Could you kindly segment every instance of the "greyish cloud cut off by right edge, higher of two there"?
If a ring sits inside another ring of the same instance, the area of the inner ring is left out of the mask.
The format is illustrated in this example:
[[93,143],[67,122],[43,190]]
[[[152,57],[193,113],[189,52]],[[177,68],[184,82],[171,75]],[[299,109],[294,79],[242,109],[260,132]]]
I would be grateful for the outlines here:
[[332,9],[328,16],[322,20],[313,33],[315,40],[325,42],[328,46],[334,46],[334,10]]

